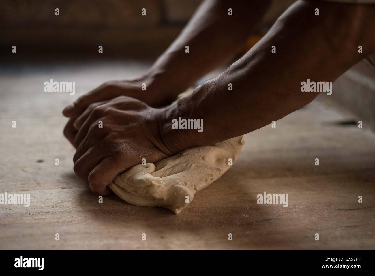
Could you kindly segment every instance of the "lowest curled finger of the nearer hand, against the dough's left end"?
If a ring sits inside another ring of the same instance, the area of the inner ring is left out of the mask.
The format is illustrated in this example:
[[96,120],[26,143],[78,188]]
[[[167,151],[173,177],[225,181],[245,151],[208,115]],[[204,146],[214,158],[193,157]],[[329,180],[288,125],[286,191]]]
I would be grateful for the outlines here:
[[115,177],[128,169],[125,159],[117,159],[113,156],[103,159],[89,174],[89,186],[93,193],[104,195],[111,190],[108,185]]

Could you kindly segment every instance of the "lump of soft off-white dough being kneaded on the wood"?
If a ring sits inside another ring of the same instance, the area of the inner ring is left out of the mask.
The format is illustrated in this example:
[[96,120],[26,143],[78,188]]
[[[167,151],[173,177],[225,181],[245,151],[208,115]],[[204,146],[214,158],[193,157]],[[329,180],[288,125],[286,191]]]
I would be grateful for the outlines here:
[[213,146],[188,148],[155,165],[136,165],[118,175],[109,187],[130,204],[164,207],[178,214],[196,192],[231,167],[229,158],[234,163],[243,144],[244,138],[239,136]]

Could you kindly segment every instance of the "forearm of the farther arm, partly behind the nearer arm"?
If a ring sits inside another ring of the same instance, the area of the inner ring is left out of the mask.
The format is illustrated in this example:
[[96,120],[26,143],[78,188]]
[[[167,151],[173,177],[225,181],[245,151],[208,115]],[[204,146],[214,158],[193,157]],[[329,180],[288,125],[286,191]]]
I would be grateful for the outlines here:
[[[162,83],[163,93],[173,96],[181,93],[245,45],[269,2],[204,1],[147,75]],[[233,9],[233,15],[228,15],[229,8]],[[189,53],[185,52],[185,46],[189,46]]]

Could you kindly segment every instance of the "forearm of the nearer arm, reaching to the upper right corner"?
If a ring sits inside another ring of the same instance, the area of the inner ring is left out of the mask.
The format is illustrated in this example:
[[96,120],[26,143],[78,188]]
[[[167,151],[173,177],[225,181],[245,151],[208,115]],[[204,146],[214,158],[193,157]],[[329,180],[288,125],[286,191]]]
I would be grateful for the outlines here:
[[[316,17],[315,7],[321,12]],[[370,6],[299,1],[228,70],[166,109],[166,144],[176,151],[213,144],[259,129],[308,104],[318,93],[301,92],[303,81],[335,81],[375,51],[373,13]],[[361,20],[354,19],[358,14]],[[276,53],[271,52],[274,45]],[[229,83],[233,91],[228,90]],[[202,118],[203,132],[171,129],[171,120],[178,117]]]

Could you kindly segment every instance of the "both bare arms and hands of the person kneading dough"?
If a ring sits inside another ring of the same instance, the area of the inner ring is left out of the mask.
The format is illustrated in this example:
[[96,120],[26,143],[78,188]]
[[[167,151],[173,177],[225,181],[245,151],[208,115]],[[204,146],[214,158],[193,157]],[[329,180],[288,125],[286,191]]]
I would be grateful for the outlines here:
[[[375,5],[300,0],[225,72],[176,104],[150,107],[170,102],[246,42],[256,24],[248,19],[260,20],[269,3],[246,5],[231,3],[233,14],[240,13],[231,21],[223,1],[205,1],[143,77],[105,84],[63,111],[71,118],[64,133],[77,148],[74,170],[94,193],[109,193],[107,185],[142,158],[154,163],[189,147],[251,132],[298,110],[318,95],[301,92],[302,81],[335,81],[375,52]],[[142,83],[147,91],[141,90]],[[228,91],[229,83],[233,91]],[[178,116],[203,119],[204,131],[172,130],[171,121]]]

